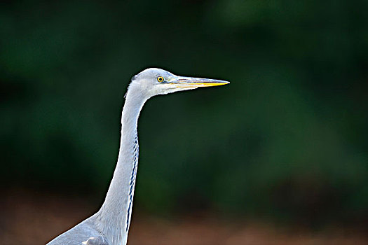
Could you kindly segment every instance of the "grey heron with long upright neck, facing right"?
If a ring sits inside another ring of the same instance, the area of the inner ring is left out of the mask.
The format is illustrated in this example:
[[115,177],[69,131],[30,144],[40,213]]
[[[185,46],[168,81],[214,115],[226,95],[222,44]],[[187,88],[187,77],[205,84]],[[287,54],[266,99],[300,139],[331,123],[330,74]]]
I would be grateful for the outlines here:
[[138,167],[137,123],[147,99],[198,87],[226,85],[226,80],[177,76],[169,71],[149,68],[133,76],[125,94],[121,116],[118,161],[102,207],[48,245],[125,245],[128,241],[132,202]]

